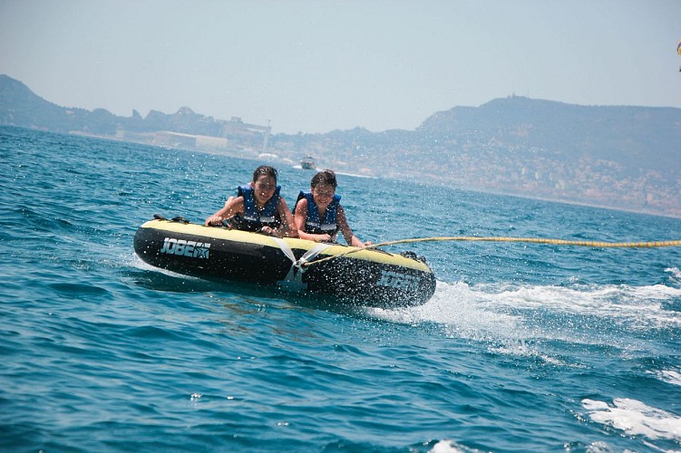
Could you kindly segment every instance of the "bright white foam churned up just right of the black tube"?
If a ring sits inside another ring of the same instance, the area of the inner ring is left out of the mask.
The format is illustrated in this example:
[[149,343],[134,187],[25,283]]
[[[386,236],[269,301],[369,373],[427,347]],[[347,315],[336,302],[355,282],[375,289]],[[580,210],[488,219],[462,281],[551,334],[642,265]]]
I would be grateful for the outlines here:
[[459,333],[499,333],[501,329],[526,338],[538,330],[526,314],[538,310],[608,322],[620,320],[641,330],[678,327],[681,313],[667,310],[664,303],[680,297],[681,289],[664,284],[514,287],[438,282],[427,304],[374,313],[397,323],[441,323]]

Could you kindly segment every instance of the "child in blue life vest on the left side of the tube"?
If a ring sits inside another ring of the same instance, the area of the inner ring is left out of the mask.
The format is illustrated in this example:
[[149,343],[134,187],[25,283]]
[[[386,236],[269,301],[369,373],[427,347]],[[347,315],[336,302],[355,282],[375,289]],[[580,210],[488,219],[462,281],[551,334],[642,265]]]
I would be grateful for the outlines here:
[[253,172],[250,184],[237,188],[225,207],[206,219],[206,226],[220,226],[227,220],[230,228],[256,231],[269,236],[296,237],[296,226],[287,202],[279,196],[277,170],[261,165]]

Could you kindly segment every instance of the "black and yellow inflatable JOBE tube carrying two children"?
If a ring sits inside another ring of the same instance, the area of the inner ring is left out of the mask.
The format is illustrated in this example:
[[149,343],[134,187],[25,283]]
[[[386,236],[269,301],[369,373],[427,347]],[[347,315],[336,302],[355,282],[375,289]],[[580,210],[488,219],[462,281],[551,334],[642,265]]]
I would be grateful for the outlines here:
[[[181,217],[140,226],[135,253],[146,263],[184,275],[328,294],[357,304],[425,304],[435,291],[431,268],[413,254],[280,239]],[[322,260],[329,256],[334,258]],[[319,263],[316,263],[319,261]]]

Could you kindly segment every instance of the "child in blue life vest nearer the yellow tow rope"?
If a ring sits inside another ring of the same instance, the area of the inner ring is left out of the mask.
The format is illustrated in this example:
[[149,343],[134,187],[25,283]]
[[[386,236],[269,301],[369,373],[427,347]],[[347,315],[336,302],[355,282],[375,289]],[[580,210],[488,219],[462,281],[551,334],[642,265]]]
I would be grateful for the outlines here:
[[334,242],[340,230],[348,246],[370,246],[371,242],[362,242],[347,225],[336,186],[336,173],[326,169],[312,178],[309,191],[300,192],[294,207],[298,237],[315,242]]

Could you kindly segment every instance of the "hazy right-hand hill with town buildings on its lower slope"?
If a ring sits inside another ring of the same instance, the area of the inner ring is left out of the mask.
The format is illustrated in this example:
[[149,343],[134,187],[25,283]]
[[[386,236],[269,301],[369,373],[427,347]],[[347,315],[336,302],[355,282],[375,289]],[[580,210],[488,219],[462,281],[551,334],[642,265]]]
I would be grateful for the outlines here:
[[276,136],[332,168],[681,217],[681,109],[511,96],[433,114],[414,131]]

